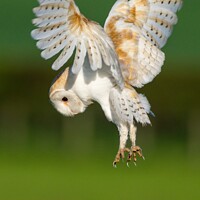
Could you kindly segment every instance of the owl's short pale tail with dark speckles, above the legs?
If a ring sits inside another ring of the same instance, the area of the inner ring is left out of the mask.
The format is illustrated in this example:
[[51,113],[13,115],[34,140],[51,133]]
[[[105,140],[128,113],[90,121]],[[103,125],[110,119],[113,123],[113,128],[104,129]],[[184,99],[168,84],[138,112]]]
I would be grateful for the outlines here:
[[123,122],[132,124],[135,120],[142,125],[151,124],[148,117],[148,114],[153,114],[150,104],[144,95],[138,94],[133,88],[124,88],[122,91],[113,88],[110,101],[115,114]]

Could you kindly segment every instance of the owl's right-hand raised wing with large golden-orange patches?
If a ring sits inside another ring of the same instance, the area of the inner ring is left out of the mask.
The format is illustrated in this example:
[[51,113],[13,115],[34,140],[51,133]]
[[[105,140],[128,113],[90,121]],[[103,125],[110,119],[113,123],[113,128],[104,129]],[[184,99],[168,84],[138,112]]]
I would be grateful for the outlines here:
[[105,31],[114,42],[126,82],[142,87],[161,71],[160,50],[177,23],[182,0],[118,0]]

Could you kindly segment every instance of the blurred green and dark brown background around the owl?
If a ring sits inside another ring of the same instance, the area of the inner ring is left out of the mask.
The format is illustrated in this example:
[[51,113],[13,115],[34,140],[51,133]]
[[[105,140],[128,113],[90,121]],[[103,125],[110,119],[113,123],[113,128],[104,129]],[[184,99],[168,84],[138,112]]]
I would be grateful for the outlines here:
[[[115,0],[76,2],[103,25]],[[65,118],[48,100],[58,72],[30,37],[36,5],[0,7],[0,199],[200,199],[200,1],[185,0],[162,73],[138,90],[156,115],[138,125],[146,160],[117,169],[117,129],[100,106]]]

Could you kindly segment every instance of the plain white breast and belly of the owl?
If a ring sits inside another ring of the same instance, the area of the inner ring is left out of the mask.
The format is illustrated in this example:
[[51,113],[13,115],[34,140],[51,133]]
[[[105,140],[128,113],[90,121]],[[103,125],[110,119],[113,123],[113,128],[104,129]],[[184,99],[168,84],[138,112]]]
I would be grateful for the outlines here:
[[92,71],[87,65],[88,62],[85,62],[77,75],[70,70],[66,89],[72,89],[86,105],[98,102],[107,119],[113,121],[109,95],[114,81],[111,74],[108,76],[109,67],[104,65],[102,69]]

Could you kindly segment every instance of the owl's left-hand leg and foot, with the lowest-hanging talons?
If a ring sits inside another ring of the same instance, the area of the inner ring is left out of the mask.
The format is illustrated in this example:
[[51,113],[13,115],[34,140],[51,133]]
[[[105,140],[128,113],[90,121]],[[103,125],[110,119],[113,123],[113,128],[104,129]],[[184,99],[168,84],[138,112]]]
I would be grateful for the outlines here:
[[115,160],[113,162],[113,166],[116,167],[117,163],[119,163],[120,159],[124,159],[124,153],[130,152],[128,148],[126,148],[126,142],[128,139],[128,128],[126,125],[118,126],[120,141],[119,141],[119,150],[117,155],[115,156]]

